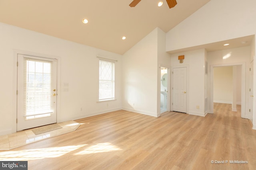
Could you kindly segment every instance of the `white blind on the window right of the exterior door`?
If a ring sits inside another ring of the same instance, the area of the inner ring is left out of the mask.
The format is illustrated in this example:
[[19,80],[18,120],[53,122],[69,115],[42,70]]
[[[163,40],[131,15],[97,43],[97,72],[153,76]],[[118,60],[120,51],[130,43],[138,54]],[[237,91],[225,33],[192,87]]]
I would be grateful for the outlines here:
[[115,63],[99,60],[99,101],[115,99]]

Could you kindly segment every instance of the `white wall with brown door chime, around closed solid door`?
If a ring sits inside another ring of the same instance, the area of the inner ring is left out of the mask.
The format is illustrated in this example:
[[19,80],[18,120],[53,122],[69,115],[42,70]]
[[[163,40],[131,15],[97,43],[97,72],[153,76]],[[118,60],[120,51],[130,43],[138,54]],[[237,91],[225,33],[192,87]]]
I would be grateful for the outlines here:
[[[184,55],[183,63],[178,60]],[[172,68],[188,67],[187,113],[205,116],[204,113],[204,57],[205,49],[172,54]],[[197,109],[196,106],[199,106]]]

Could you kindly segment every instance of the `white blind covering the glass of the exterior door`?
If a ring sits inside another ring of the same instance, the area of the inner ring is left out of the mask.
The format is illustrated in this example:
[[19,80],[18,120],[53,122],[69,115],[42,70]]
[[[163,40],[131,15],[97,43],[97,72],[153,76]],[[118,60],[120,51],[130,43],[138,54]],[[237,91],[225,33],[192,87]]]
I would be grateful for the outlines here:
[[24,58],[24,116],[50,116],[53,108],[52,62]]

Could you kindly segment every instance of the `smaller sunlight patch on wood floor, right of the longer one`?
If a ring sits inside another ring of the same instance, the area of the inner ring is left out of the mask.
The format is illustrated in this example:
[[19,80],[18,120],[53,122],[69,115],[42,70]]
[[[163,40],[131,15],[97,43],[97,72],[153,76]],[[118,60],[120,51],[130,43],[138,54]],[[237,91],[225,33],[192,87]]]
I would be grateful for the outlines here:
[[115,145],[112,145],[112,143],[98,143],[97,145],[93,145],[91,147],[86,148],[85,150],[76,153],[75,155],[80,154],[93,154],[93,153],[101,153],[101,152],[112,152],[116,150],[122,150],[119,147],[116,147]]

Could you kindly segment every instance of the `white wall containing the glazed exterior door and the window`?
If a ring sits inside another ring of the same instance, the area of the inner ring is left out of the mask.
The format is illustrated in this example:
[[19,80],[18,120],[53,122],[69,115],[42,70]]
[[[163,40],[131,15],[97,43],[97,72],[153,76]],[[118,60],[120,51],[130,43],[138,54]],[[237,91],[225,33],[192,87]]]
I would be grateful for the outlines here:
[[[0,135],[16,132],[16,91],[14,77],[16,63],[14,49],[60,57],[60,110],[58,121],[78,119],[122,108],[121,77],[122,56],[100,49],[80,45],[41,33],[0,23]],[[96,103],[96,55],[118,60],[116,64],[116,101]],[[69,91],[63,91],[69,83]],[[107,106],[108,103],[108,106]],[[82,107],[82,111],[80,108]]]

